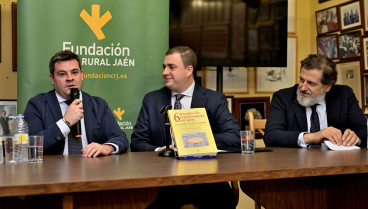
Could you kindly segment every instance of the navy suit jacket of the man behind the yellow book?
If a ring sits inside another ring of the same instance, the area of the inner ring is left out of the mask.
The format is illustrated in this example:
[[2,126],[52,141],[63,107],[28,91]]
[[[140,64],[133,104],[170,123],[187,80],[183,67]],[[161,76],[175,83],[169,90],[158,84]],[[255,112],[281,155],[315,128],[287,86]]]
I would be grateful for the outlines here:
[[[132,151],[153,151],[165,146],[165,116],[160,109],[170,104],[171,91],[167,87],[145,95],[133,129]],[[196,84],[191,108],[200,107],[206,108],[217,148],[240,147],[239,124],[229,112],[226,97]]]

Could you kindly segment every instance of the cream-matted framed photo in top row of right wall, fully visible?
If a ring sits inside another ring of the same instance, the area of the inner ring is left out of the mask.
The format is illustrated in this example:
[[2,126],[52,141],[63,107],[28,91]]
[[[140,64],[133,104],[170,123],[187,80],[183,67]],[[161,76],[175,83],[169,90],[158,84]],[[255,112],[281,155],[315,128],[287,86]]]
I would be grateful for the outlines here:
[[347,2],[340,7],[341,30],[356,29],[362,27],[362,15],[360,1]]

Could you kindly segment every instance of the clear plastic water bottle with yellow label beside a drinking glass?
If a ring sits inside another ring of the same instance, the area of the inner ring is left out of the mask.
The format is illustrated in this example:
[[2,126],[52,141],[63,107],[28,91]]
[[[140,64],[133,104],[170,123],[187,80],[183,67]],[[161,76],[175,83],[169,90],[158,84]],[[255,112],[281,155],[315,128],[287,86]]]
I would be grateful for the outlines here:
[[14,141],[18,142],[20,146],[19,162],[28,162],[28,125],[22,114],[14,118]]

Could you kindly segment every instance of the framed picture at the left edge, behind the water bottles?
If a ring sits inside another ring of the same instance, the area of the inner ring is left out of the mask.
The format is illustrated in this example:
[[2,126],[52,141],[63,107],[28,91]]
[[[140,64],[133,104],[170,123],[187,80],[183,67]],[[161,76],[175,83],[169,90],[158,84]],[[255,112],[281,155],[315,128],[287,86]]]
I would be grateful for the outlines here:
[[3,123],[5,121],[1,121],[0,123],[0,135],[6,135],[6,134],[10,134],[10,133],[14,133],[13,130],[13,125],[12,125],[12,119],[9,118],[8,116],[12,115],[12,116],[16,116],[17,115],[17,101],[16,100],[0,100],[0,118],[2,118],[2,112],[5,111],[6,112],[6,119],[7,119],[7,124],[8,126],[6,127],[6,129],[8,131],[4,132],[4,127],[3,127]]

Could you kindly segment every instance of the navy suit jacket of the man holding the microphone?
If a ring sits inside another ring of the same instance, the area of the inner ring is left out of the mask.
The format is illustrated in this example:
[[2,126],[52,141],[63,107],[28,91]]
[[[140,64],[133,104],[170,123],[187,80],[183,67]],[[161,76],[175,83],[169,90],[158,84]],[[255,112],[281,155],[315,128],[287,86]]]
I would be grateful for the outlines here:
[[[129,147],[128,139],[117,124],[107,102],[85,92],[82,100],[88,144],[114,143],[119,147],[119,153],[126,152]],[[24,119],[28,123],[29,134],[44,135],[45,154],[63,154],[65,138],[56,124],[62,117],[55,90],[38,94],[28,101]]]

